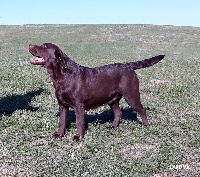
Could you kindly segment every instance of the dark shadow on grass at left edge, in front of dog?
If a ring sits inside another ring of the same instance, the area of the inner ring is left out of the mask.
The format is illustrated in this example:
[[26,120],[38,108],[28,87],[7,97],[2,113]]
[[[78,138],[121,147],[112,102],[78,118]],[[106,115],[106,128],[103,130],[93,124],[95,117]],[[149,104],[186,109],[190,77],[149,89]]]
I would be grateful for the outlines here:
[[0,99],[0,118],[4,116],[11,116],[16,110],[30,110],[37,111],[38,107],[30,106],[33,97],[40,95],[44,89],[30,91],[24,95],[11,95]]

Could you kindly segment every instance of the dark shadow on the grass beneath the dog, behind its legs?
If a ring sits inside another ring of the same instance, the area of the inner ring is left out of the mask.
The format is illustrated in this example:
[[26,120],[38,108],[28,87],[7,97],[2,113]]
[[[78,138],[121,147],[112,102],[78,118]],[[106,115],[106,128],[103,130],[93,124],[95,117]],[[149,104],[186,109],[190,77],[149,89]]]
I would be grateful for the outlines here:
[[[130,120],[138,124],[142,124],[142,122],[138,120],[137,114],[133,111],[132,108],[124,108],[121,110],[123,119]],[[86,130],[88,129],[89,123],[94,123],[94,124],[110,123],[111,125],[113,120],[114,120],[114,113],[111,109],[94,115],[85,114],[85,126],[86,126],[85,128]],[[76,122],[75,112],[69,111],[67,129],[70,129],[71,124],[75,122]]]

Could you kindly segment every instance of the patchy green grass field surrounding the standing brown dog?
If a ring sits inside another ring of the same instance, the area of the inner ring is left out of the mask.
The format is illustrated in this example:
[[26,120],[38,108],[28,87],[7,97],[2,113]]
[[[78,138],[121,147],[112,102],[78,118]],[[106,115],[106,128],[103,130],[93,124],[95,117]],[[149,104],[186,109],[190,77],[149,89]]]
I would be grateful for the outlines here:
[[[153,25],[0,26],[0,176],[199,176],[200,28]],[[151,126],[134,122],[124,100],[123,122],[108,129],[104,106],[86,114],[75,143],[70,111],[65,137],[54,89],[42,67],[29,64],[28,45],[52,42],[84,66],[165,54],[137,70]]]

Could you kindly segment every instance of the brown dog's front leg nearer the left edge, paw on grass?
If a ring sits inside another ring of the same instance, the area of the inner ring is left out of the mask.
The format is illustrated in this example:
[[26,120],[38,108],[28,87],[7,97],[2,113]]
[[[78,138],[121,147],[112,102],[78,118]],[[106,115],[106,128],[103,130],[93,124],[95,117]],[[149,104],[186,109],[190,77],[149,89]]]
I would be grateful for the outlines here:
[[68,117],[68,107],[64,107],[63,105],[59,105],[60,110],[60,122],[59,122],[59,129],[53,134],[54,138],[60,138],[63,137],[66,130],[66,124],[67,124],[67,117]]

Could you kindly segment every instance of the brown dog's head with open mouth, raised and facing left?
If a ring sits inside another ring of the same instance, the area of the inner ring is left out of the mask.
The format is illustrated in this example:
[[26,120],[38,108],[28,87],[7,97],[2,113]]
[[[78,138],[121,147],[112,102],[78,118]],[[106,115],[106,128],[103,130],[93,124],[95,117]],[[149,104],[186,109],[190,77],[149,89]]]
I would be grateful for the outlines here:
[[61,65],[63,68],[67,68],[63,52],[55,44],[44,43],[40,46],[30,44],[29,52],[35,56],[31,59],[31,64],[44,65],[45,67]]

